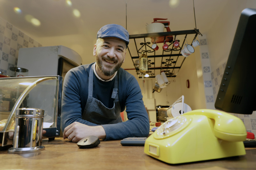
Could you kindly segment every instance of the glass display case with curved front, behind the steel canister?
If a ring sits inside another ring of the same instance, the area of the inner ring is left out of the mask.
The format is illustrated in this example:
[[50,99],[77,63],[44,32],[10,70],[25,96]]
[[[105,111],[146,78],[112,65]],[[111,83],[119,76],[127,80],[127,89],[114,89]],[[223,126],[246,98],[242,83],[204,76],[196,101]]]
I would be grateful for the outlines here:
[[44,110],[44,138],[60,136],[61,76],[0,78],[0,147],[12,145],[18,108]]

